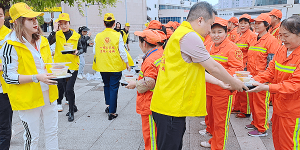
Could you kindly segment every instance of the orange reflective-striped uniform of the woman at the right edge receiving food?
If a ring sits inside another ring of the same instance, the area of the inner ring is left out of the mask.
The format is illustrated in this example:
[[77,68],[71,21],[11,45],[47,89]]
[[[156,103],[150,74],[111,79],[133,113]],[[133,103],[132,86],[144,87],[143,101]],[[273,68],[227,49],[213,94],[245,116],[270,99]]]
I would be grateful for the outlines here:
[[287,48],[278,49],[266,71],[254,77],[269,84],[274,93],[272,136],[276,150],[299,149],[300,142],[300,47],[287,57]]

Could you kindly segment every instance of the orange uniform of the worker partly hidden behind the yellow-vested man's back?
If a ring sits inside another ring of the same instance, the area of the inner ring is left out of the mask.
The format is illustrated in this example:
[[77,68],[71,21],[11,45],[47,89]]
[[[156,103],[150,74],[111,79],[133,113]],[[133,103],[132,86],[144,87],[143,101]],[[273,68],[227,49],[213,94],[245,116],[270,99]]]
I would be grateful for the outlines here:
[[[159,64],[163,54],[162,47],[150,50],[142,64],[138,80],[150,77],[156,80]],[[149,90],[145,93],[137,93],[136,112],[142,117],[142,130],[145,142],[145,150],[157,149],[156,147],[156,126],[150,110],[150,103],[153,92]]]

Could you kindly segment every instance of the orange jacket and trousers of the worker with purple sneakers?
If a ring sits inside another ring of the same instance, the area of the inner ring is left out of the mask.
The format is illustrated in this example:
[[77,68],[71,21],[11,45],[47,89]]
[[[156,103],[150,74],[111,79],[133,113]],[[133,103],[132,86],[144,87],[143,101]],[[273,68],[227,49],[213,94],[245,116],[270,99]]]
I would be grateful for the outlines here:
[[[275,54],[280,47],[280,43],[271,34],[266,33],[258,41],[253,42],[248,51],[247,70],[252,76],[267,68],[268,54]],[[250,110],[253,121],[251,122],[259,132],[265,132],[269,129],[269,98],[270,93],[261,91],[258,93],[249,93]]]

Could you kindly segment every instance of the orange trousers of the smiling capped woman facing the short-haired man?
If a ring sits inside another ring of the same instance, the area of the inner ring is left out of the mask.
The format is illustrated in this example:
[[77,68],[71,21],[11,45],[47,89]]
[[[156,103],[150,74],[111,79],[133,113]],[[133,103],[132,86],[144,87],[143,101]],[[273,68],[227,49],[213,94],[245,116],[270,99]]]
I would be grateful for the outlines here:
[[208,120],[212,138],[208,141],[212,150],[225,149],[229,120],[232,109],[233,95],[229,96],[206,96],[208,105]]

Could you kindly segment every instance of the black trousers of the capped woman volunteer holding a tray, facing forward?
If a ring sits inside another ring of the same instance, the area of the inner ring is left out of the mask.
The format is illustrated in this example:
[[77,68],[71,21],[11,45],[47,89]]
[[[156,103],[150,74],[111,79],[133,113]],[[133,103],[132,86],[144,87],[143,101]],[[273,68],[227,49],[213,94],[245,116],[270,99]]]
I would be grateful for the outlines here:
[[[71,73],[68,70],[68,73]],[[76,82],[78,70],[71,73],[72,76],[68,79],[59,79],[57,88],[58,88],[58,99],[57,104],[61,104],[62,99],[64,96],[66,100],[69,101],[69,112],[74,112],[74,105],[75,105],[75,92],[74,92],[74,85]]]

